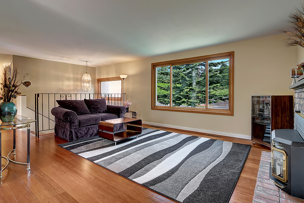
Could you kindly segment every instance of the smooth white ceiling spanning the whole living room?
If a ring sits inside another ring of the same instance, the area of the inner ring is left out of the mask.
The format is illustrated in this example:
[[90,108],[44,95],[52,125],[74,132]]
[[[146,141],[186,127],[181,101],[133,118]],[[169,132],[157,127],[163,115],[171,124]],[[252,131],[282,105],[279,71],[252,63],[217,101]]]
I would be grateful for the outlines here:
[[1,0],[0,53],[100,66],[280,33],[303,0]]

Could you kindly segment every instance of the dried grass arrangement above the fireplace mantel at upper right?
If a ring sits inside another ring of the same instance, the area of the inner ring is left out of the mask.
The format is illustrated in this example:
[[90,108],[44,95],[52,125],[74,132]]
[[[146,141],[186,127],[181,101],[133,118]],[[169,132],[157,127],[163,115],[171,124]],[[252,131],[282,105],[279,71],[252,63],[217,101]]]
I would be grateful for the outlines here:
[[289,38],[285,40],[287,47],[301,46],[304,47],[304,5],[302,10],[296,9],[295,12],[289,14],[289,20],[287,23],[291,24],[293,31],[280,30],[289,35]]

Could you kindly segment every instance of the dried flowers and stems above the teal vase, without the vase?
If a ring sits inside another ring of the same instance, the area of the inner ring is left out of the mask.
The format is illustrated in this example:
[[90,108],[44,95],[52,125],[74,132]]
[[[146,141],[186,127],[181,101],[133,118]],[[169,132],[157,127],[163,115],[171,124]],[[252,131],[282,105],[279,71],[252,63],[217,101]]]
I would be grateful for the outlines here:
[[23,82],[27,76],[30,75],[28,73],[21,75],[21,73],[18,72],[18,69],[14,68],[11,77],[9,77],[4,68],[3,77],[0,77],[0,100],[3,100],[4,102],[12,102],[13,99],[16,99],[17,96],[21,94],[21,92],[19,92],[21,85],[26,87],[31,85],[31,82],[29,81]]

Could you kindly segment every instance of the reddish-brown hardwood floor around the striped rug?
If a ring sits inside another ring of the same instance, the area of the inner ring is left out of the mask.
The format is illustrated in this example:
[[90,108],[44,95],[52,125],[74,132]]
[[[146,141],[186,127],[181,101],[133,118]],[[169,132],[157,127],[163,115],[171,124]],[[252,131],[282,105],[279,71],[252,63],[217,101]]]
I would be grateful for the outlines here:
[[[154,129],[209,137],[173,128]],[[240,138],[216,139],[252,144]],[[12,150],[12,142],[12,131],[2,131],[3,156]],[[175,202],[57,146],[64,142],[67,141],[54,134],[41,135],[39,139],[31,136],[31,170],[9,164],[0,180],[0,202]],[[252,145],[230,202],[252,202],[261,151],[270,152],[270,148]],[[26,131],[17,130],[16,160],[26,160]]]

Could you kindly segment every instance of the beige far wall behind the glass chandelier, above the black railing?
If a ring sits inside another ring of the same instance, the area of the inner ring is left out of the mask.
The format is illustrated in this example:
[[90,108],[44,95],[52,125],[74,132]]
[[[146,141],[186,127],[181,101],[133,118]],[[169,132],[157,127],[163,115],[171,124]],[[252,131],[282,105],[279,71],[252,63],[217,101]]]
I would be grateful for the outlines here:
[[[84,62],[85,64],[85,62]],[[48,61],[13,55],[13,68],[19,72],[33,76],[31,86],[22,86],[20,92],[27,96],[27,107],[34,109],[35,93],[95,93],[95,67],[88,66],[88,73],[92,77],[92,89],[84,92],[81,87],[81,78],[85,73],[85,65],[75,65],[57,61]]]

